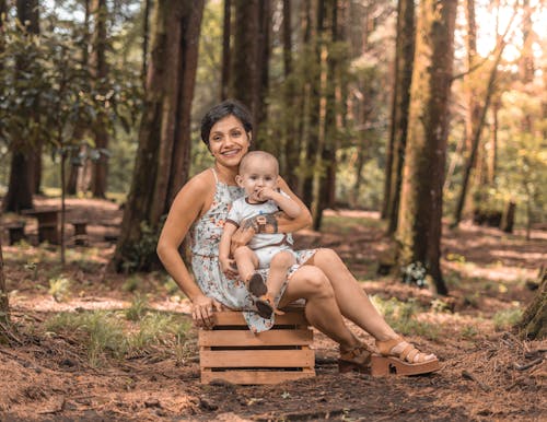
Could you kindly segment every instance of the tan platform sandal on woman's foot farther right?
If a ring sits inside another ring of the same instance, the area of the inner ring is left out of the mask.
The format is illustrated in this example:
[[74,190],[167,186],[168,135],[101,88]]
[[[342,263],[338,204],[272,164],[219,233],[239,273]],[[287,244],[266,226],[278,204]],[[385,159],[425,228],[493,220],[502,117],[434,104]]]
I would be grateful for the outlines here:
[[[392,350],[400,343],[406,343],[407,345],[401,352],[393,353]],[[420,352],[403,337],[386,341],[376,340],[376,348],[380,351],[380,355],[374,354],[371,360],[371,374],[373,376],[386,376],[389,374],[420,375],[441,368],[441,364],[437,357],[426,360],[427,353]],[[418,356],[418,360],[415,361],[416,356]]]

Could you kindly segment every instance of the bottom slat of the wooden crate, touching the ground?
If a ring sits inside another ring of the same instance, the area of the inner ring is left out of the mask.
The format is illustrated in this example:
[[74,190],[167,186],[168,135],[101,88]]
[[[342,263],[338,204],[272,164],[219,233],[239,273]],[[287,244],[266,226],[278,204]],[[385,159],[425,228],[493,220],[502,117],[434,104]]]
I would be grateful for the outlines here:
[[209,384],[216,379],[222,379],[232,384],[258,385],[258,384],[278,384],[286,380],[310,378],[315,376],[314,370],[303,372],[283,372],[283,371],[223,371],[201,373],[201,383]]

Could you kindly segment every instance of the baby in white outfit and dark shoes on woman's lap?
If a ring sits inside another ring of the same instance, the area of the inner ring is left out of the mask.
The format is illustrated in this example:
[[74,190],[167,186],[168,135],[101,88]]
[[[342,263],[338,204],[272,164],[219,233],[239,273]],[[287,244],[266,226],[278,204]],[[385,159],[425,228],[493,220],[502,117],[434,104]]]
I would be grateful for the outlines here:
[[[264,318],[276,309],[275,297],[287,279],[287,271],[295,263],[290,234],[256,234],[248,245],[238,247],[230,258],[230,243],[241,222],[279,210],[289,218],[296,218],[301,208],[296,201],[278,188],[279,164],[264,151],[248,152],[240,164],[237,184],[245,189],[245,197],[236,199],[228,214],[219,246],[219,260],[224,273],[237,269],[251,294],[255,296],[258,314]],[[257,269],[270,268],[266,282]]]

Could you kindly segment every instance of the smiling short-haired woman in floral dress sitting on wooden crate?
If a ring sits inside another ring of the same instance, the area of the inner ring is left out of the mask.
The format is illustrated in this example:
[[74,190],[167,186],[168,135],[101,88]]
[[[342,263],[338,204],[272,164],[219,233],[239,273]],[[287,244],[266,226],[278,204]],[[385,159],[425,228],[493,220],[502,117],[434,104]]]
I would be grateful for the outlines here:
[[[201,139],[214,157],[214,165],[194,176],[177,194],[158,243],[158,255],[191,301],[191,315],[199,326],[211,327],[213,312],[223,306],[245,310],[247,324],[254,331],[263,331],[272,325],[271,320],[260,318],[252,310],[253,300],[245,284],[225,278],[218,261],[219,242],[230,204],[244,195],[235,176],[242,157],[249,150],[252,129],[247,109],[237,102],[225,101],[206,114],[201,121]],[[287,228],[282,228],[283,222],[277,218],[266,230],[288,232],[309,225],[310,211],[284,180],[279,185],[302,207],[302,216]],[[189,231],[196,280],[178,253]],[[276,304],[282,308],[296,300],[305,300],[310,324],[340,345],[340,372],[366,372],[371,366],[371,352],[348,329],[342,316],[376,339],[382,356],[374,356],[375,365],[392,364],[400,370],[399,373],[408,375],[439,368],[433,354],[419,352],[385,323],[336,253],[330,249],[301,250],[296,262]]]

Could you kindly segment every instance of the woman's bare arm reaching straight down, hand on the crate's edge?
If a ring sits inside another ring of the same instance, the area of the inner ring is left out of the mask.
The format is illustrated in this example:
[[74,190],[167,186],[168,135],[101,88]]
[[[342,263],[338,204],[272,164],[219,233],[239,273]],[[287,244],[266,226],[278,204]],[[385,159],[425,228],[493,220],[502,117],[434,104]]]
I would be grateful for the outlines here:
[[194,320],[203,326],[212,325],[212,310],[213,308],[220,309],[221,305],[201,292],[188,272],[178,247],[206,207],[207,198],[211,197],[210,190],[213,188],[214,184],[209,183],[207,175],[200,174],[181,189],[165,220],[156,248],[163,266],[191,301]]

